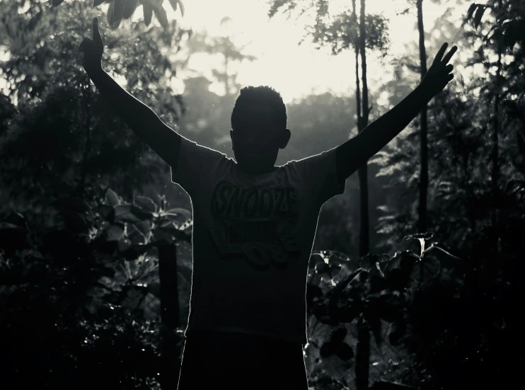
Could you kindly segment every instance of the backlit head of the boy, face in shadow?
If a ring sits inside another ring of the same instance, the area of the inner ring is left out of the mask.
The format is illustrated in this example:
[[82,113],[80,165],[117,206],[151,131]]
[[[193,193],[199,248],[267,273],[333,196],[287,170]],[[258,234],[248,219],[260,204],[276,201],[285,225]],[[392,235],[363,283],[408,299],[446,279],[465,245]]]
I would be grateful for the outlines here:
[[238,164],[248,169],[273,167],[290,139],[286,106],[269,86],[241,89],[231,113],[230,137]]

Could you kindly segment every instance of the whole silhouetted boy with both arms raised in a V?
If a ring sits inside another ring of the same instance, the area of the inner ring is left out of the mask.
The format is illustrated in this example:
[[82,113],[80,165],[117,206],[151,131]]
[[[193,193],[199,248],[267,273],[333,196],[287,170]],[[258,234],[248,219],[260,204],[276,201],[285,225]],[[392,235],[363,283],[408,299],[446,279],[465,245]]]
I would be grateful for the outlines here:
[[171,166],[192,200],[193,274],[179,390],[307,390],[306,273],[323,203],[451,81],[445,43],[395,108],[344,144],[275,166],[291,132],[279,93],[243,88],[231,114],[235,160],[180,136],[103,71],[103,41],[81,43],[83,68],[117,115]]

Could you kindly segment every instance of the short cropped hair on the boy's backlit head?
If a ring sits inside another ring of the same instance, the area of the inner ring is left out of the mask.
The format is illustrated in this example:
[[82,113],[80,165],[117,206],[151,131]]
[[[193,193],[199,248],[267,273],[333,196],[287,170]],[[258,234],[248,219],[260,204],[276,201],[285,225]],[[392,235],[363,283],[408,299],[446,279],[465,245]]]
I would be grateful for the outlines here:
[[235,129],[236,124],[244,122],[248,115],[246,108],[250,104],[267,105],[272,108],[274,120],[277,126],[286,128],[287,113],[286,105],[282,101],[281,94],[270,86],[246,86],[241,89],[239,96],[231,112],[231,128]]

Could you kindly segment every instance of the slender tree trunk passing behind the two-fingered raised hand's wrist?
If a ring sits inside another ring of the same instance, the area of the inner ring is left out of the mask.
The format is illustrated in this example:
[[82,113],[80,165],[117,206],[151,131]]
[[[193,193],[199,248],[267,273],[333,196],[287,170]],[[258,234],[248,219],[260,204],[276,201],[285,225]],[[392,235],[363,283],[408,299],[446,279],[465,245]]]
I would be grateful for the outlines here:
[[[423,0],[417,0],[417,29],[420,32],[421,79],[427,74],[427,53],[425,51],[425,29],[423,28]],[[421,110],[420,137],[420,202],[417,209],[418,229],[427,231],[427,192],[428,192],[428,145],[427,145],[427,105]]]

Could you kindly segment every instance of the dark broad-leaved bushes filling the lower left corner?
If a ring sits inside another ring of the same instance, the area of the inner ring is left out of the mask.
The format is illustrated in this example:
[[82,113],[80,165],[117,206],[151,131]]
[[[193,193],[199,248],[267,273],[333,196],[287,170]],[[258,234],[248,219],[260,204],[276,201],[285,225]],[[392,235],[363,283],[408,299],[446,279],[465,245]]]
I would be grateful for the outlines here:
[[[104,202],[66,197],[58,207],[61,218],[47,229],[28,226],[18,212],[0,223],[6,380],[158,388],[158,313],[145,316],[144,305],[158,297],[156,247],[190,240],[190,212],[168,210],[163,198],[127,204],[112,190]],[[191,270],[179,270],[189,282]]]

